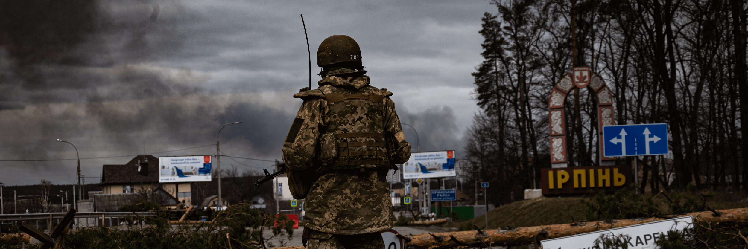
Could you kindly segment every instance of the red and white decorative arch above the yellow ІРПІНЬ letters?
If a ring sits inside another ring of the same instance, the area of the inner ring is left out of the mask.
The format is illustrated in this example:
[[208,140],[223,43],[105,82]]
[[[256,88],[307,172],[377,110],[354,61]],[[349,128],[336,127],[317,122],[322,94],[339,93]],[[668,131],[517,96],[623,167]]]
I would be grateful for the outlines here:
[[603,145],[603,126],[612,126],[615,123],[613,114],[613,94],[607,87],[602,77],[592,73],[589,67],[574,67],[571,73],[566,73],[551,89],[551,97],[548,98],[548,134],[551,136],[551,165],[552,167],[566,167],[566,118],[564,115],[564,105],[568,92],[578,87],[583,89],[587,87],[592,93],[595,93],[598,99],[598,159],[600,165],[609,165],[613,163],[616,157],[605,157],[602,154]]

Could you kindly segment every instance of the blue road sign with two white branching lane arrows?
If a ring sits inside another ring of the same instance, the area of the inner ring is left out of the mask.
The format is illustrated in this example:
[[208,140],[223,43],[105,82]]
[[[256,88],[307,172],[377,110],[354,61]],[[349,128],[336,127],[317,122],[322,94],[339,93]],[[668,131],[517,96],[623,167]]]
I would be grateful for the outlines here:
[[667,154],[667,124],[604,126],[605,156]]

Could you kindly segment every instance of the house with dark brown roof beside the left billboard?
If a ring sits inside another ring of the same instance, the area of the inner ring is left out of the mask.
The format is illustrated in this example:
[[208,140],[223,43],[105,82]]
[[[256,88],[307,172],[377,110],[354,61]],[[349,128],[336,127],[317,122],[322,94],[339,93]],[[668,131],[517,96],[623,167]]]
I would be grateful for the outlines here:
[[192,182],[159,182],[159,170],[159,159],[150,155],[135,156],[124,165],[103,165],[102,194],[94,195],[96,211],[99,211],[98,206],[114,209],[129,199],[153,199],[169,207],[176,207],[177,203],[191,204]]

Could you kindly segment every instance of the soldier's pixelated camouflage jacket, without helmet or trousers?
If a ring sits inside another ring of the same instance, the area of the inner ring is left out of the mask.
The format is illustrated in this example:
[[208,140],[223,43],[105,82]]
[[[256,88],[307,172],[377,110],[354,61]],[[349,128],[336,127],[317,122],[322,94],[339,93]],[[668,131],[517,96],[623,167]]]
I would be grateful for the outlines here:
[[[297,120],[304,120],[298,132],[290,131],[283,144],[283,162],[291,170],[323,169],[319,162],[319,138],[327,132],[375,132],[389,134],[387,147],[341,147],[340,151],[375,150],[388,156],[343,156],[345,160],[385,160],[399,164],[410,157],[411,146],[402,135],[402,126],[392,93],[369,85],[368,76],[346,76],[355,70],[341,69],[328,73],[315,90],[294,96],[304,99]],[[328,103],[325,93],[379,94],[383,103],[367,99],[346,99]],[[294,134],[295,133],[295,134]],[[295,135],[292,136],[292,135]],[[337,142],[385,142],[382,138],[337,138]],[[389,150],[388,150],[389,149]],[[384,173],[390,165],[348,165],[334,170],[317,170],[319,179],[307,195],[304,227],[324,233],[361,234],[390,229],[393,226],[392,203]],[[359,168],[370,168],[359,170]]]

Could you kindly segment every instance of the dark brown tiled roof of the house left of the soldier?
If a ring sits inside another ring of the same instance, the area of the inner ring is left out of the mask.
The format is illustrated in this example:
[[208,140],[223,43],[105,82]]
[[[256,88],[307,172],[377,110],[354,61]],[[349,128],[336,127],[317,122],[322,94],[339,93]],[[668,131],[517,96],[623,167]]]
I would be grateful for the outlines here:
[[[141,164],[147,164],[147,173],[138,172],[138,166]],[[101,182],[102,185],[159,182],[159,159],[155,156],[141,155],[135,156],[125,165],[104,165]]]

